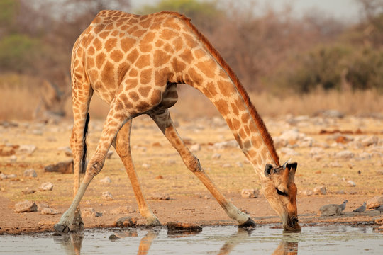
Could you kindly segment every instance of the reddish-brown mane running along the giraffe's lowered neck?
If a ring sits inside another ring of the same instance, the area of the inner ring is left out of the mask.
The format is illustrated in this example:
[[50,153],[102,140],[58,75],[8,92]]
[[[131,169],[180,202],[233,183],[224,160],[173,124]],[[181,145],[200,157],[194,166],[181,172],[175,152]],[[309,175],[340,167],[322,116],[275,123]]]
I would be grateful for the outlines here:
[[263,141],[265,142],[267,149],[269,150],[272,158],[274,159],[275,164],[277,164],[279,166],[279,157],[278,157],[277,151],[275,150],[272,137],[271,137],[269,131],[267,130],[265,123],[263,122],[262,118],[257,113],[255,106],[251,103],[248,93],[245,91],[245,88],[240,83],[237,75],[233,72],[231,67],[226,63],[225,60],[223,60],[223,57],[213,47],[213,45],[211,45],[211,43],[205,37],[205,35],[203,35],[201,32],[199,32],[199,30],[194,26],[194,24],[191,23],[190,18],[187,18],[186,16],[184,16],[180,13],[174,12],[174,11],[162,11],[162,13],[166,13],[166,14],[169,14],[172,16],[176,16],[177,18],[181,18],[182,21],[184,21],[187,24],[187,26],[189,26],[189,28],[194,32],[194,34],[197,35],[199,40],[201,40],[201,42],[204,43],[206,49],[209,50],[211,55],[213,55],[213,57],[216,58],[216,61],[218,62],[218,64],[221,65],[221,67],[226,71],[228,76],[231,78],[231,80],[235,84],[235,87],[238,90],[240,96],[242,96],[243,101],[245,102],[245,106],[248,107],[250,115],[251,115],[252,119],[255,121],[255,124],[257,125],[257,129],[260,132],[260,134],[262,135]]

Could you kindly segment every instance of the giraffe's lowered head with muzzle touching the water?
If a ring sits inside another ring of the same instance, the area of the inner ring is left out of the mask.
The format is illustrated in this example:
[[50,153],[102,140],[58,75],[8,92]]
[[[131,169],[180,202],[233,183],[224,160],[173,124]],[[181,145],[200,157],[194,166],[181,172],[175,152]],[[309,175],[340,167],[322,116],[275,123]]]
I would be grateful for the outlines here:
[[267,177],[263,186],[265,198],[282,220],[283,228],[287,231],[299,231],[298,213],[296,210],[296,185],[294,176],[296,163],[283,164],[274,167],[265,166]]

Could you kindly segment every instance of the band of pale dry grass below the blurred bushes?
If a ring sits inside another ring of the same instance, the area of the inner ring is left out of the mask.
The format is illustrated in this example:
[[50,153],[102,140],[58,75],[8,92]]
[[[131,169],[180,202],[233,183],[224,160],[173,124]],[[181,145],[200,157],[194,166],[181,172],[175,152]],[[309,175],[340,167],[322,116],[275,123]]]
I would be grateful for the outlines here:
[[[8,74],[0,76],[0,120],[32,120],[40,103],[40,81],[32,77]],[[267,92],[251,93],[250,98],[262,117],[279,115],[315,115],[335,109],[346,115],[383,114],[383,95],[377,91],[315,91],[311,94],[276,96]],[[72,118],[70,98],[65,110]],[[91,118],[104,119],[109,107],[94,95]],[[199,91],[179,86],[179,101],[171,108],[174,118],[201,118],[219,115],[213,104]]]

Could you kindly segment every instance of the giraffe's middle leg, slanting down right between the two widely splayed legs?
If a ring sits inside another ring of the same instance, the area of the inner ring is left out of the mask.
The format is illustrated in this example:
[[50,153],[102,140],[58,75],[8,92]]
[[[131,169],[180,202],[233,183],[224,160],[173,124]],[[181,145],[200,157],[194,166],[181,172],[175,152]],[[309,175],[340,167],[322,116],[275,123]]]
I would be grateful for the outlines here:
[[116,140],[113,143],[113,146],[116,148],[118,156],[120,156],[123,165],[126,168],[126,173],[131,181],[131,185],[135,194],[135,198],[138,203],[138,208],[140,209],[140,214],[146,218],[147,225],[149,226],[160,226],[161,223],[157,217],[153,214],[152,210],[146,204],[145,198],[143,196],[142,189],[140,187],[140,182],[138,181],[137,173],[134,169],[132,156],[131,156],[131,120],[128,121],[123,128],[118,132]]

